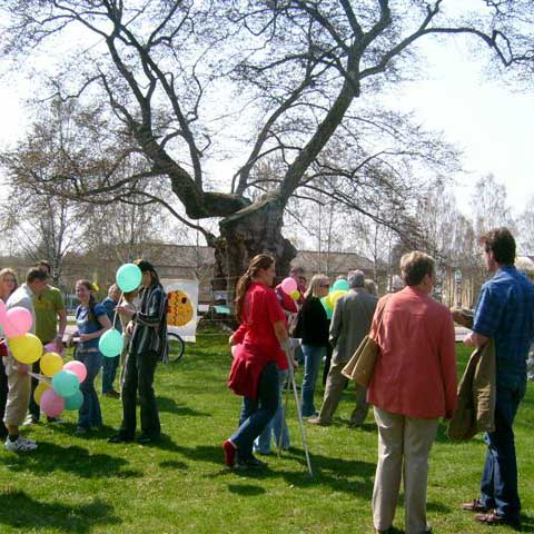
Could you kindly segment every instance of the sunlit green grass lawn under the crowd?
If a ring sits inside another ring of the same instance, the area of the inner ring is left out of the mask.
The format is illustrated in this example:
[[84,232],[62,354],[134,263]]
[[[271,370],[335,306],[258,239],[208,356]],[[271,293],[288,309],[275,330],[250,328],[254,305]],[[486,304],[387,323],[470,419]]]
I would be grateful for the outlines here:
[[[39,448],[0,452],[0,533],[367,533],[376,427],[347,428],[352,389],[332,427],[307,427],[310,478],[296,409],[288,416],[293,447],[268,459],[263,473],[222,466],[220,443],[236,427],[240,398],[226,388],[226,336],[200,334],[182,362],[159,366],[156,390],[165,439],[158,446],[112,445],[120,402],[102,398],[105,428],[72,435],[76,414],[62,426],[28,431]],[[466,350],[458,347],[461,364]],[[323,394],[317,392],[317,404]],[[523,532],[534,532],[533,383],[516,419]],[[475,524],[458,504],[477,495],[482,437],[452,444],[441,428],[431,455],[428,518],[435,533],[513,532]],[[395,523],[403,525],[403,510]]]

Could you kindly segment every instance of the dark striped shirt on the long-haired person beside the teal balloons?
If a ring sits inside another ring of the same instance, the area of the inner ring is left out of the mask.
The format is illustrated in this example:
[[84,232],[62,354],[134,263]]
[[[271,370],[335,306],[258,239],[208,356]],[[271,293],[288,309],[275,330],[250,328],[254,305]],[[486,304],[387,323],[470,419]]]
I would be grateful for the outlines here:
[[154,352],[164,358],[167,354],[167,295],[161,284],[141,290],[141,304],[134,324],[130,353]]

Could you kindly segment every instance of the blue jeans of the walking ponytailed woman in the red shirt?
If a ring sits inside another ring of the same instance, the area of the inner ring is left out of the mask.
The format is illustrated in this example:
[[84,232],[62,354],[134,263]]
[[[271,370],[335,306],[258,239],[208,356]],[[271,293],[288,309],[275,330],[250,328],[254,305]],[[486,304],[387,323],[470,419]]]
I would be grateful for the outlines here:
[[278,369],[274,362],[269,362],[259,376],[257,398],[244,397],[239,428],[230,436],[237,447],[238,459],[253,455],[254,441],[278,409]]

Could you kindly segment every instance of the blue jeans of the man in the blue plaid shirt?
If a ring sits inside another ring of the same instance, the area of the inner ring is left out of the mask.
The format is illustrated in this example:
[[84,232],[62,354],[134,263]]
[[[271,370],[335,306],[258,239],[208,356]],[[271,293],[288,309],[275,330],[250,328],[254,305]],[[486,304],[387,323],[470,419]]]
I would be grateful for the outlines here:
[[486,433],[486,462],[481,482],[481,502],[497,514],[517,520],[521,501],[517,492],[517,462],[515,457],[514,423],[520,402],[525,395],[526,379],[515,386],[497,385],[495,431]]

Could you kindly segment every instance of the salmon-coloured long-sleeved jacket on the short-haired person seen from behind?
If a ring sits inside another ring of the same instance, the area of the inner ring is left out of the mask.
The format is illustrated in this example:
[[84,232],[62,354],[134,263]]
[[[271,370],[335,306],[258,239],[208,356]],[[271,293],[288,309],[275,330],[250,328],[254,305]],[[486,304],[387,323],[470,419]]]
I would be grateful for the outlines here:
[[369,404],[411,417],[451,417],[456,408],[456,348],[449,309],[405,287],[378,301],[372,336],[380,354]]

